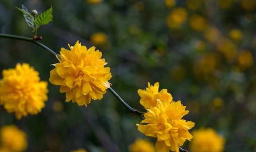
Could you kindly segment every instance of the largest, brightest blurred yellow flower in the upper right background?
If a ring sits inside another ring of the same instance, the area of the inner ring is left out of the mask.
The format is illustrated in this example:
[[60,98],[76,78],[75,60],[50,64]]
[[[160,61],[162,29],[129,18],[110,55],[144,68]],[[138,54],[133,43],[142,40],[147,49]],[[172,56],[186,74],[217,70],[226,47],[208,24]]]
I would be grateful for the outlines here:
[[166,23],[169,28],[180,28],[180,26],[186,21],[187,16],[188,13],[186,12],[186,9],[177,7],[167,16]]

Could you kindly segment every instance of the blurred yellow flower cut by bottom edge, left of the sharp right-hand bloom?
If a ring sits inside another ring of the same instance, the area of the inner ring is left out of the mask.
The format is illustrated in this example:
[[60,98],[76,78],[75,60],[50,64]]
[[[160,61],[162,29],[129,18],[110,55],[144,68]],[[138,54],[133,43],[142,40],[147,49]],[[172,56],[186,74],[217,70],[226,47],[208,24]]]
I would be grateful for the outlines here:
[[155,146],[147,139],[136,139],[129,146],[129,152],[155,152]]

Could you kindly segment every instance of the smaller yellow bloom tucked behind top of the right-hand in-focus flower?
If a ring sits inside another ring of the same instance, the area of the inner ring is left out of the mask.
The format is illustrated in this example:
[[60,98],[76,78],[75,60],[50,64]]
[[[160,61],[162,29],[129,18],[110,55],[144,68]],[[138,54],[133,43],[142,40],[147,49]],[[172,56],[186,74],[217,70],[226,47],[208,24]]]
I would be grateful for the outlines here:
[[146,90],[138,90],[138,94],[141,98],[139,103],[144,106],[146,110],[150,109],[150,107],[154,107],[157,104],[157,99],[161,101],[166,100],[168,103],[173,101],[173,97],[167,92],[167,89],[162,89],[160,92],[158,92],[158,89],[159,82],[156,82],[154,86],[150,86],[148,82],[148,88],[146,88]]

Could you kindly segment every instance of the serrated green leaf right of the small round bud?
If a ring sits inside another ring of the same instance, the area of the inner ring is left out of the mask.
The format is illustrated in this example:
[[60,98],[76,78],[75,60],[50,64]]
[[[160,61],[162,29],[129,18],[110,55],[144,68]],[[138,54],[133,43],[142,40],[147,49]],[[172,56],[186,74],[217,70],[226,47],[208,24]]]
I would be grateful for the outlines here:
[[34,22],[37,24],[37,26],[48,24],[52,21],[53,15],[52,15],[52,7],[50,9],[47,9],[44,13],[38,15]]

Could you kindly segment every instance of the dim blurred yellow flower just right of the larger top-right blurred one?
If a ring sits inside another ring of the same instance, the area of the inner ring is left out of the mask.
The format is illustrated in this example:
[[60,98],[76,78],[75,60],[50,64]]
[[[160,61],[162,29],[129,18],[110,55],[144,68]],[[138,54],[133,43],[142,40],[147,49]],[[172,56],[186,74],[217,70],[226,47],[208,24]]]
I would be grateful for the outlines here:
[[195,30],[199,30],[199,31],[203,31],[206,28],[206,22],[204,20],[204,17],[200,16],[200,15],[191,15],[190,19],[189,19],[189,24],[190,26],[195,29]]

